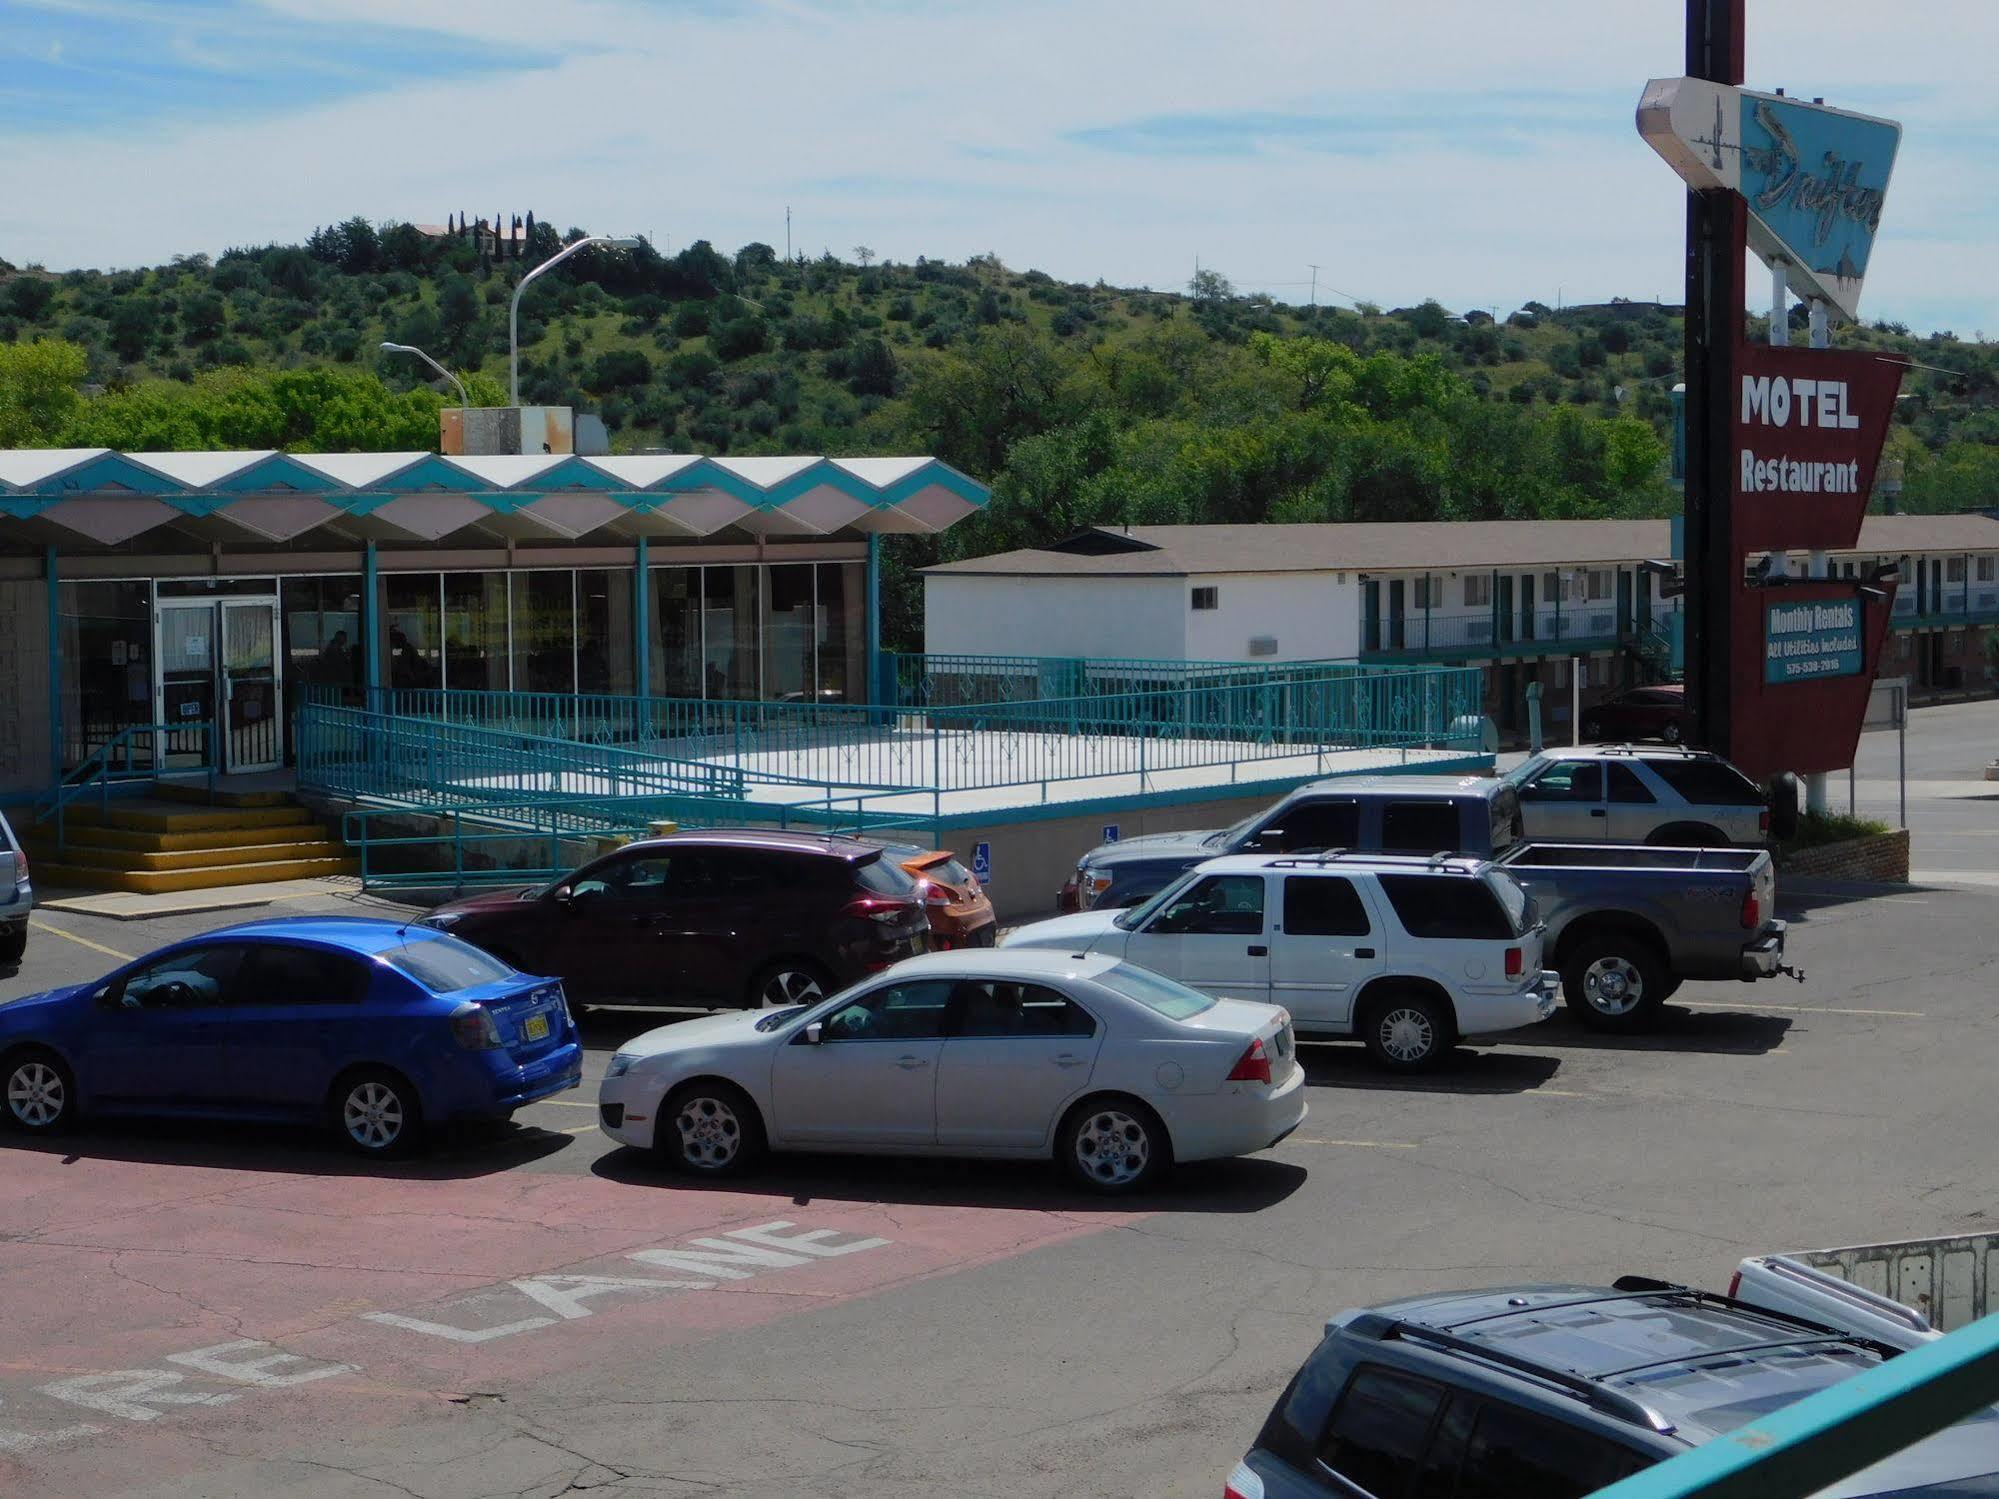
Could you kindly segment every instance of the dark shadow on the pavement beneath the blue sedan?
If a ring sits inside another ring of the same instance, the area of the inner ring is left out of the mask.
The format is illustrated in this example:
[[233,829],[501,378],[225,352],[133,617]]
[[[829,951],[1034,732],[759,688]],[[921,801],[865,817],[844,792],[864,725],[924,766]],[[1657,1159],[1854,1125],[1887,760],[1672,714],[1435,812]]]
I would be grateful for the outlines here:
[[[140,1133],[144,1131],[144,1133]],[[306,1177],[462,1181],[546,1159],[574,1143],[534,1125],[464,1123],[434,1135],[430,1151],[396,1161],[350,1155],[324,1131],[220,1119],[80,1121],[64,1135],[0,1135],[6,1147],[72,1161],[196,1165]]]

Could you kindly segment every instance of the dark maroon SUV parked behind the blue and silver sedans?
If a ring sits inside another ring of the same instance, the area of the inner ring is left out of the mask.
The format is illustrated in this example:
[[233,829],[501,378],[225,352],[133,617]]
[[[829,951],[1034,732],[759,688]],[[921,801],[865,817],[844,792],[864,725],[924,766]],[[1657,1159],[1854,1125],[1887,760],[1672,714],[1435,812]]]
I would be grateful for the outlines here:
[[928,947],[922,891],[882,847],[760,829],[626,843],[552,885],[424,917],[582,1003],[800,1005]]

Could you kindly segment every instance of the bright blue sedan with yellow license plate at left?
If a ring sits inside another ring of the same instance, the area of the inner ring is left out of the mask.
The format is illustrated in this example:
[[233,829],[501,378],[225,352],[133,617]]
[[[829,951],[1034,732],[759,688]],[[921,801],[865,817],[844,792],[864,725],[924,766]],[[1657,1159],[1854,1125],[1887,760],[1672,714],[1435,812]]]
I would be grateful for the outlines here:
[[328,1123],[364,1155],[426,1123],[506,1117],[582,1081],[562,983],[430,927],[288,917],[162,947],[0,1005],[6,1117]]

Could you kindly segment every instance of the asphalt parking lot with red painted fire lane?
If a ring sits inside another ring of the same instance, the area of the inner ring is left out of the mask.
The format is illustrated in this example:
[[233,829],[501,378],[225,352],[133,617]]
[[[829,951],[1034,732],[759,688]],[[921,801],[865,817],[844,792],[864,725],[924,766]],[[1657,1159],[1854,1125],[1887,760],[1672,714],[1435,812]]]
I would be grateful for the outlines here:
[[[1651,1035],[1557,1015],[1419,1081],[1305,1047],[1291,1139],[1115,1207],[1033,1165],[662,1175],[590,1109],[636,1011],[586,1021],[582,1091],[412,1163],[12,1137],[0,1491],[1211,1499],[1339,1307],[1981,1225],[1999,887],[1965,875],[1787,889],[1807,981],[1689,983]],[[0,999],[228,919],[44,911]]]

